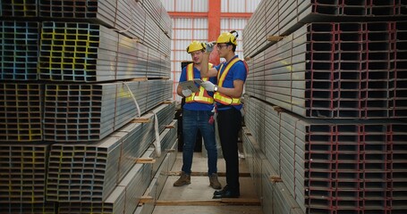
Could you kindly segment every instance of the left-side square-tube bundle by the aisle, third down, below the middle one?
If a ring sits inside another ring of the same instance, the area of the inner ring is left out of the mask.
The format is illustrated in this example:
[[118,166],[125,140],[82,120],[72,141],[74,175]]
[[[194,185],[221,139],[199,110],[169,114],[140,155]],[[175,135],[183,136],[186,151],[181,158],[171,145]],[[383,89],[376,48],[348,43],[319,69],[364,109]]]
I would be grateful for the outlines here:
[[143,119],[148,122],[129,124],[97,143],[53,144],[49,152],[47,200],[105,202],[155,140],[154,123],[158,122],[159,133],[171,123],[168,112],[174,111],[174,103],[153,111],[157,111],[158,121],[147,114]]

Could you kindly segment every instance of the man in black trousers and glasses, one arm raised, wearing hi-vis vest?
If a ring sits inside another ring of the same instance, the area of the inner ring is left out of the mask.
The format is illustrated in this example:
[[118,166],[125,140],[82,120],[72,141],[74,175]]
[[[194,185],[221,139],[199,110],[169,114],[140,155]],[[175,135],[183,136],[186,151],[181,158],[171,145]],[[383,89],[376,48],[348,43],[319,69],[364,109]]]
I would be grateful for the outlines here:
[[[216,120],[226,163],[226,185],[223,190],[216,191],[213,198],[240,197],[238,139],[239,131],[242,128],[241,97],[248,68],[246,63],[234,53],[237,37],[238,33],[233,30],[222,33],[217,37],[216,43],[208,43],[200,70],[202,77],[217,77],[218,84],[210,81],[200,84],[207,91],[215,93]],[[215,46],[219,56],[225,58],[226,62],[209,68],[209,54]]]

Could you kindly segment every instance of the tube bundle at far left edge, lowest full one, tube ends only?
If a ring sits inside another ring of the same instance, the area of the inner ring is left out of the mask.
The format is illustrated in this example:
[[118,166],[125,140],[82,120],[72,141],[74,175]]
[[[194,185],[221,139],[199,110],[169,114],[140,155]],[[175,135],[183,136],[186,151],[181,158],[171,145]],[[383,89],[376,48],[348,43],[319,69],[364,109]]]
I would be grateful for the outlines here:
[[48,144],[0,144],[1,203],[20,202],[21,210],[26,210],[24,203],[45,202],[48,147]]

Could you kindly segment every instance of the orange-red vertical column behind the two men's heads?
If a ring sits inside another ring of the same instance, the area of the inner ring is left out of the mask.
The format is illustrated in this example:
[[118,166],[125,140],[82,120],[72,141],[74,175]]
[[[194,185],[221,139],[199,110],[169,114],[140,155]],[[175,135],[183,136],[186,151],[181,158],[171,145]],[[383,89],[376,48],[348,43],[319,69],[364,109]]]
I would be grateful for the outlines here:
[[[214,41],[220,35],[221,0],[209,0],[208,8],[208,41]],[[219,54],[215,50],[209,56],[209,62],[220,63]]]

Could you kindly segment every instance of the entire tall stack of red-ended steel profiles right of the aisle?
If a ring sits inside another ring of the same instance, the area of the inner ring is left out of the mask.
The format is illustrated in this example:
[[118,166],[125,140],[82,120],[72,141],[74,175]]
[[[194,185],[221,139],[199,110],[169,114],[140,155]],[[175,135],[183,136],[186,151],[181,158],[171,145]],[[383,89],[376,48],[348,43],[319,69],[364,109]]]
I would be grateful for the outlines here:
[[261,2],[243,31],[244,140],[264,211],[407,210],[405,8]]

